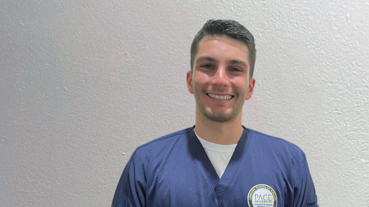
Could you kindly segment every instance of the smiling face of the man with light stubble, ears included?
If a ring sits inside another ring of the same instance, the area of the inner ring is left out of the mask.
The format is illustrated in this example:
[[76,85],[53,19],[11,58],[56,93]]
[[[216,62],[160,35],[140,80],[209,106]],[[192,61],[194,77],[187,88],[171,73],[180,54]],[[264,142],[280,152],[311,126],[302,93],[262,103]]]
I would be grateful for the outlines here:
[[241,116],[251,98],[255,79],[249,81],[249,51],[241,41],[227,36],[205,36],[197,45],[193,74],[187,86],[196,100],[197,115],[215,122]]

